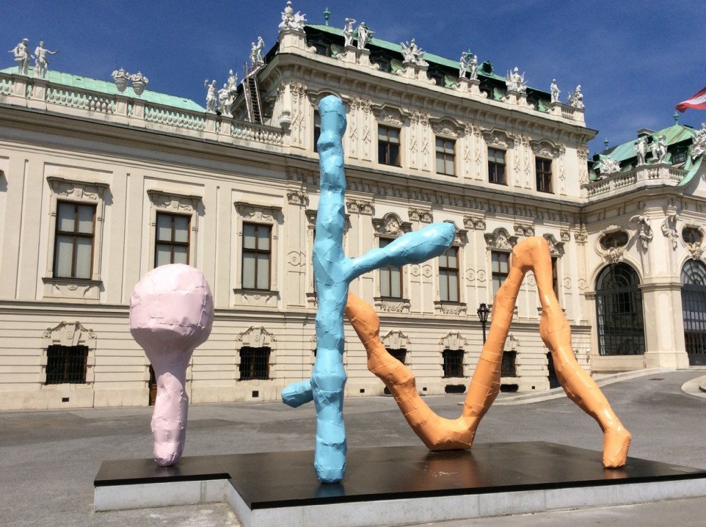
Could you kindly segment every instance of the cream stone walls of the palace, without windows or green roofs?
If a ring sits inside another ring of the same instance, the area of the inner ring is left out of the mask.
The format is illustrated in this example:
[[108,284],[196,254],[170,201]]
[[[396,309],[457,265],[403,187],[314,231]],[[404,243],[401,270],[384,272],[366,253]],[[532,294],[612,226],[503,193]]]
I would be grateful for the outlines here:
[[[660,319],[679,319],[679,272],[693,250],[679,240],[674,248],[660,225],[670,212],[679,213],[677,232],[684,222],[701,225],[702,190],[587,196],[596,184],[587,183],[594,132],[581,110],[557,103],[539,111],[524,94],[491,100],[467,79],[456,89],[433,85],[409,65],[401,75],[378,71],[367,49],[321,56],[299,31],[283,30],[279,45],[259,76],[270,115],[264,125],[76,88],[61,87],[68,99],[55,97],[59,87],[47,80],[0,73],[0,408],[148,404],[149,364],[128,332],[128,302],[154,266],[164,212],[189,219],[188,261],[215,301],[213,332],[187,372],[191,401],[274,400],[289,382],[308,378],[316,349],[315,108],[330,93],[347,107],[347,254],[430,222],[459,229],[455,301],[440,298],[438,260],[405,267],[400,298],[381,294],[378,272],[352,284],[380,313],[385,345],[407,351],[421,392],[468,384],[482,345],[476,309],[493,301],[491,254],[523,236],[550,242],[582,365],[685,365],[683,329]],[[244,113],[240,95],[234,115]],[[378,162],[381,126],[400,133],[399,166]],[[453,145],[453,175],[436,171],[437,139]],[[489,147],[505,152],[506,184],[489,183]],[[551,162],[550,192],[537,190],[538,157]],[[61,202],[95,206],[88,279],[54,277]],[[635,242],[635,214],[652,225],[647,250]],[[266,290],[243,284],[244,224],[269,229]],[[644,356],[597,354],[593,291],[606,263],[597,240],[613,224],[630,234],[621,258],[643,284]],[[503,377],[520,391],[549,387],[539,305],[530,275],[506,346],[516,352],[517,376]],[[53,344],[88,347],[85,382],[47,384]],[[261,346],[270,349],[270,380],[239,380],[239,350]],[[443,377],[444,349],[465,352],[462,377]],[[347,395],[383,393],[350,327],[344,364]]]

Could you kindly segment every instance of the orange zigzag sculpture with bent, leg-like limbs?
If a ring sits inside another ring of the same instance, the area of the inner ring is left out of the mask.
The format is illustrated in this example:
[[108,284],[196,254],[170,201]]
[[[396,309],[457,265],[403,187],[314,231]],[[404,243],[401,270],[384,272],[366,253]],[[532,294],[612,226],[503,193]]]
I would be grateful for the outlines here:
[[530,270],[534,272],[542,303],[539,334],[551,351],[556,376],[570,399],[600,425],[604,466],[624,466],[632,436],[618,420],[597,384],[576,361],[570,327],[552,289],[551,255],[549,243],[544,238],[525,238],[513,249],[510,273],[493,302],[488,339],[469,384],[461,416],[455,420],[437,416],[421,399],[414,374],[385,350],[380,340],[380,319],[369,303],[349,292],[345,314],[365,346],[368,369],[395,396],[407,423],[426,447],[430,450],[468,449],[481,418],[500,392],[505,339],[522,279]]

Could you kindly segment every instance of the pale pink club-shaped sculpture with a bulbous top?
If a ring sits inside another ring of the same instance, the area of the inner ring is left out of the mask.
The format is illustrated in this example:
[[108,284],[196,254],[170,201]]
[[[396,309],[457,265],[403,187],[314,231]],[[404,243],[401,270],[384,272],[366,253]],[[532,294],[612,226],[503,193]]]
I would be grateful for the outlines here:
[[213,324],[213,296],[201,271],[162,265],[145,274],[130,297],[130,332],[152,363],[157,401],[152,413],[155,461],[170,466],[186,442],[186,366]]

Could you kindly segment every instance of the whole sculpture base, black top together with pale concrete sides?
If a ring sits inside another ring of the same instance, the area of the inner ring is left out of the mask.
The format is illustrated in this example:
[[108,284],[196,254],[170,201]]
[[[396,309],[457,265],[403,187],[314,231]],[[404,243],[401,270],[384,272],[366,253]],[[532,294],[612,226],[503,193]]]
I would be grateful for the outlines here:
[[227,501],[244,527],[375,526],[606,507],[706,495],[706,471],[546,442],[349,449],[345,480],[322,485],[313,452],[104,461],[96,510]]

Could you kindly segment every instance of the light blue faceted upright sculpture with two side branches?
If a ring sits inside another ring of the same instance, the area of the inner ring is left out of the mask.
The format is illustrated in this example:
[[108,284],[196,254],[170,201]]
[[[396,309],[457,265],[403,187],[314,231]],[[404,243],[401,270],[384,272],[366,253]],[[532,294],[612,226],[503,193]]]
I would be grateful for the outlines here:
[[429,260],[445,252],[453,242],[452,223],[427,226],[400,236],[384,248],[374,248],[358,258],[343,253],[344,196],[346,180],[342,137],[345,109],[329,95],[318,105],[321,135],[318,139],[321,198],[316,214],[313,269],[318,295],[316,313],[316,362],[311,380],[289,384],[282,401],[292,407],[313,400],[316,405],[314,470],[323,483],[343,479],[346,467],[346,432],[343,425],[343,310],[348,285],[361,274],[388,266]]

